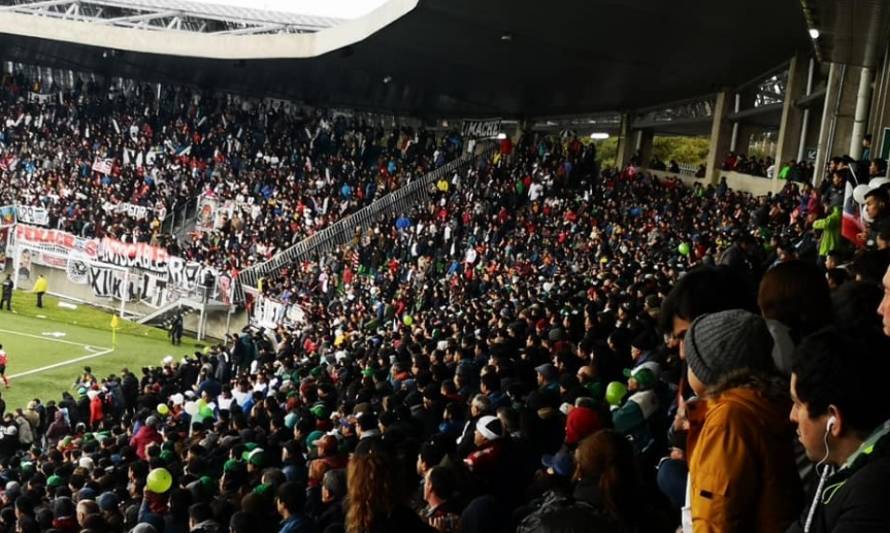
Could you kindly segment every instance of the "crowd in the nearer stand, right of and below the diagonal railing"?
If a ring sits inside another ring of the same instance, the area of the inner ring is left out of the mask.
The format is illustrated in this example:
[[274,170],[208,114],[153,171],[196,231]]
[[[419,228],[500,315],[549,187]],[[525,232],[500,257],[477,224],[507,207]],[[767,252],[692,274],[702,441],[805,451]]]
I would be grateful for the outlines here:
[[887,531],[857,174],[753,198],[528,135],[263,280],[302,319],[3,413],[0,530]]

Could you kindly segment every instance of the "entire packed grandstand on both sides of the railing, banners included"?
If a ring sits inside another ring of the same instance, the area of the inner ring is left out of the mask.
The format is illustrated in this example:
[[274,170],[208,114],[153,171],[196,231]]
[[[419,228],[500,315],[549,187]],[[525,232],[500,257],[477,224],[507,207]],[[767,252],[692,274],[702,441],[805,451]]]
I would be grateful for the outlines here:
[[21,70],[0,119],[15,284],[58,267],[152,309],[202,286],[250,318],[0,400],[0,533],[890,531],[870,151],[818,184],[727,152],[781,179],[755,196],[601,168],[571,130]]

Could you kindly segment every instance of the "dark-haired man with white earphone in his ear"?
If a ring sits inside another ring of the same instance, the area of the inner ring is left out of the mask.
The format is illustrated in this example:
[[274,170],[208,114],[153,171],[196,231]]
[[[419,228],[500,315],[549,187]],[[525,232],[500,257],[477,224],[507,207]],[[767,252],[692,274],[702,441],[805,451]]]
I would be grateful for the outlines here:
[[794,359],[791,420],[819,484],[788,532],[890,531],[886,339],[822,330]]

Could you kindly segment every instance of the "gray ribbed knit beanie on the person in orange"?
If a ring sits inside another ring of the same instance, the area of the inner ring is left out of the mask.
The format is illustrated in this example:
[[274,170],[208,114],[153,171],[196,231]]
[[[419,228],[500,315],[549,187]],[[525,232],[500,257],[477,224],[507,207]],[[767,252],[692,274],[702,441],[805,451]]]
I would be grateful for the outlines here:
[[749,311],[702,315],[689,326],[684,343],[686,363],[705,385],[714,385],[733,370],[774,370],[772,335],[766,321]]

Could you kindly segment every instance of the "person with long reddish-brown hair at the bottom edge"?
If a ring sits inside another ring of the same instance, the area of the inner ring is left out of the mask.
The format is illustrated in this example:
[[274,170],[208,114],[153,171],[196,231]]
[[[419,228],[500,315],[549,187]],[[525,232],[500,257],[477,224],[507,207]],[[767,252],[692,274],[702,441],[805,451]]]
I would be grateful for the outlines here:
[[401,471],[380,439],[359,444],[346,467],[346,533],[434,531],[406,504]]

